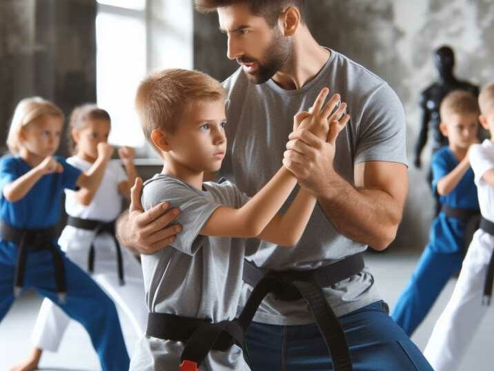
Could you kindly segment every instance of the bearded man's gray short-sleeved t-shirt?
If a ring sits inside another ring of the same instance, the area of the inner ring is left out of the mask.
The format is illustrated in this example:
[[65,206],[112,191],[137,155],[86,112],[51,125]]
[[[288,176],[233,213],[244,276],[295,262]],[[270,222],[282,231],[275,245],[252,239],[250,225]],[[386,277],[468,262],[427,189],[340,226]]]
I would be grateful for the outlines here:
[[[251,84],[239,68],[223,83],[226,102],[228,149],[221,172],[249,196],[253,196],[281,166],[293,116],[307,111],[324,87],[339,93],[348,104],[351,120],[337,138],[334,166],[354,184],[355,164],[367,161],[406,164],[405,115],[402,103],[382,79],[344,55],[330,50],[330,58],[318,75],[293,91],[280,88],[273,79]],[[295,192],[284,205],[292,202]],[[259,244],[257,246],[257,244]],[[270,269],[314,269],[364,251],[367,246],[339,234],[317,204],[301,240],[293,249],[277,249],[268,242],[249,240],[248,257]],[[252,250],[251,250],[252,249]],[[252,287],[244,283],[239,311]],[[380,299],[368,269],[324,289],[338,316]],[[306,303],[277,301],[272,295],[261,303],[255,321],[277,325],[312,323]]]

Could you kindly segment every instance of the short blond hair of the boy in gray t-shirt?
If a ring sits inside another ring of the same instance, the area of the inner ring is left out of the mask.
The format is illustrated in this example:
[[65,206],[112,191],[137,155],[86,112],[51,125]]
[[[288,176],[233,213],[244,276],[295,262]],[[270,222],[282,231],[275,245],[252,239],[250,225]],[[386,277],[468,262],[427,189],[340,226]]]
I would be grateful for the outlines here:
[[155,129],[175,133],[195,102],[224,100],[226,93],[213,77],[196,70],[173,68],[153,73],[137,88],[135,105],[148,142]]

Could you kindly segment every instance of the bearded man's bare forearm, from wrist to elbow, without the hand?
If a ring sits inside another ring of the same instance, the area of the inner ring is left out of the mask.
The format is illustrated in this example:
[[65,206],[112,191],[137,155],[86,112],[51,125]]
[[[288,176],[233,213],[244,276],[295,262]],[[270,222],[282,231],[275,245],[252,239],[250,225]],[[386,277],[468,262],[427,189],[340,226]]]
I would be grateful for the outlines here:
[[385,249],[396,236],[402,206],[385,191],[355,189],[334,174],[317,200],[339,233],[377,250]]

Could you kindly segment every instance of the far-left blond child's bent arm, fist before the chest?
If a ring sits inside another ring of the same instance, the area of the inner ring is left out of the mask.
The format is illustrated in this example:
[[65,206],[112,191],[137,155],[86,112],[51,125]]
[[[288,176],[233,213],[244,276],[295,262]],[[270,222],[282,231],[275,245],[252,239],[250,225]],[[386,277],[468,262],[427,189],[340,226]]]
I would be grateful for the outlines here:
[[8,202],[16,202],[21,200],[34,187],[34,184],[41,179],[43,175],[50,173],[62,173],[63,167],[55,158],[48,156],[37,167],[34,167],[26,174],[20,176],[11,183],[3,187],[3,197]]

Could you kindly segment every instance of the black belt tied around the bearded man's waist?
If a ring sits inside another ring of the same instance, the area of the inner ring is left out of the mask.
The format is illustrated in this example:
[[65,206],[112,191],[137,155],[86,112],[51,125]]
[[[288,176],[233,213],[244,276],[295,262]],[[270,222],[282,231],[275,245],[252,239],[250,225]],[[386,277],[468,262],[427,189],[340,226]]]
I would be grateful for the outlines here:
[[245,260],[243,278],[254,289],[239,316],[239,322],[246,330],[261,301],[269,293],[273,293],[276,298],[282,301],[295,301],[304,298],[315,318],[319,331],[322,333],[326,348],[328,348],[333,360],[333,369],[335,371],[351,371],[353,365],[343,327],[324,298],[322,287],[330,287],[359,274],[364,266],[362,253],[308,271],[277,272],[259,268],[254,263]]

